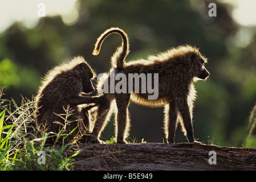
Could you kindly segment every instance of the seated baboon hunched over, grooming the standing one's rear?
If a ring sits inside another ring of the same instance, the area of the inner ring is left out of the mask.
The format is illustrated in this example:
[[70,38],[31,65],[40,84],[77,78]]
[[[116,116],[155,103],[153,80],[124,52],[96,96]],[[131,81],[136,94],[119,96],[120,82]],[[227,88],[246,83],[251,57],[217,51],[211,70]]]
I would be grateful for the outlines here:
[[[86,96],[93,92],[91,79],[95,73],[83,57],[75,57],[69,63],[60,64],[51,69],[42,81],[36,96],[36,126],[42,133],[58,133],[64,125],[64,109],[70,109],[66,133],[78,126],[76,132],[68,137],[72,139],[78,133],[84,134],[90,127],[88,109],[102,100],[101,96]],[[87,104],[87,105],[84,105]],[[94,104],[94,105],[90,105]],[[66,116],[64,116],[66,117]]]

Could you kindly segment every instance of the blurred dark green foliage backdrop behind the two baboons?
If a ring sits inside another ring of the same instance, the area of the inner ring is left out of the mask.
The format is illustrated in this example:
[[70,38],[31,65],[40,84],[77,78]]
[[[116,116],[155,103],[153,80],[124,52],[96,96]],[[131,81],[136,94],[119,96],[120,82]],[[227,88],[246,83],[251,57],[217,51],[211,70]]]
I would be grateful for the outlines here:
[[[13,3],[11,7],[21,12],[23,7],[29,7],[23,14],[32,11],[38,16],[39,2],[35,2],[28,6],[29,1],[24,1],[19,7]],[[13,97],[17,103],[21,94],[32,98],[44,73],[74,56],[84,56],[97,74],[109,71],[110,57],[121,44],[120,36],[109,37],[98,56],[93,56],[92,51],[104,30],[119,27],[127,32],[131,44],[127,61],[147,59],[180,44],[200,48],[202,55],[209,58],[206,68],[210,77],[195,83],[195,137],[222,146],[248,144],[249,113],[256,101],[256,27],[234,21],[233,4],[204,0],[87,0],[76,1],[66,15],[47,15],[53,2],[40,2],[46,6],[45,17],[36,17],[38,20],[32,25],[18,19],[0,34],[0,86],[6,86],[5,98]],[[56,10],[62,9],[66,1],[60,2]],[[210,2],[217,5],[216,17],[208,15]],[[4,18],[2,14],[1,19]],[[163,141],[163,108],[131,103],[129,113],[131,138]],[[250,141],[255,142],[255,134],[254,131]],[[101,138],[106,140],[113,135],[111,121]],[[186,142],[180,126],[176,142]]]

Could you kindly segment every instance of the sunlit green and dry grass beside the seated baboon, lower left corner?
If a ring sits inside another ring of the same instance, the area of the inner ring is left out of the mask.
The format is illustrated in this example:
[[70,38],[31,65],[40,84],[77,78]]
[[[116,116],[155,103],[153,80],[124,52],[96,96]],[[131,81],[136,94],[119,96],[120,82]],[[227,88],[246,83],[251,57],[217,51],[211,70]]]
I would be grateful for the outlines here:
[[33,126],[34,101],[22,98],[18,106],[14,100],[3,100],[2,96],[0,88],[0,170],[72,170],[72,164],[76,163],[74,156],[82,150],[76,147],[76,140],[65,143],[64,139],[75,129],[65,134],[63,127],[51,146],[46,139],[54,133],[46,133],[38,142]]

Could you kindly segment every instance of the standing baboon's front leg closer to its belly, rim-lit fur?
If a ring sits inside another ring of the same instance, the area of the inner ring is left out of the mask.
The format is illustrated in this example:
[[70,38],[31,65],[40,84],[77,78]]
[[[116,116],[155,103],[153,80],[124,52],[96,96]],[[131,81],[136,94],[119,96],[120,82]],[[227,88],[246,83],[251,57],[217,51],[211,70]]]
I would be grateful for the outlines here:
[[177,127],[177,108],[174,102],[165,106],[164,109],[165,137],[168,143],[175,143],[175,133]]

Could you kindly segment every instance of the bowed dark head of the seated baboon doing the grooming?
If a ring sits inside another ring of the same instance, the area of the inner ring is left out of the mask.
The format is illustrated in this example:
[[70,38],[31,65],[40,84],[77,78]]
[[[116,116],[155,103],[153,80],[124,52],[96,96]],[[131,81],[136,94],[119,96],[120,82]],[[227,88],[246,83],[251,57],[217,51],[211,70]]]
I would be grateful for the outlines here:
[[90,65],[88,65],[86,62],[80,63],[79,65],[76,66],[76,72],[78,72],[78,75],[83,82],[83,92],[84,93],[93,92],[95,90],[94,85],[92,84],[94,71],[92,71]]

